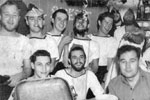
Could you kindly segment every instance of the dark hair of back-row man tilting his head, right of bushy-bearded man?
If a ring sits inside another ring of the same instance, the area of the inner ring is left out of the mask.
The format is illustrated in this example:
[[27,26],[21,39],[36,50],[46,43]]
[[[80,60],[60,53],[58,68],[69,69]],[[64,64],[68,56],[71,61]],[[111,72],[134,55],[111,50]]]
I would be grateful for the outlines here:
[[106,17],[109,17],[109,18],[111,18],[111,19],[114,20],[113,14],[111,14],[110,12],[104,12],[104,13],[102,13],[102,14],[99,14],[99,16],[98,16],[98,18],[97,18],[97,29],[98,29],[98,30],[99,30],[99,27],[100,27],[98,21],[101,21],[101,22],[102,22]]

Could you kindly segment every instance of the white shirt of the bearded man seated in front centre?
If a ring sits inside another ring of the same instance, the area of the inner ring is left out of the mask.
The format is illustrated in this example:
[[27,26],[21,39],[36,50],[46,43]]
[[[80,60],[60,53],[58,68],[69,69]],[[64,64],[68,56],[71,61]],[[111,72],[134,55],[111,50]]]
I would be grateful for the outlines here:
[[86,71],[85,74],[79,77],[72,77],[68,73],[67,69],[63,69],[58,71],[55,76],[65,79],[70,87],[74,87],[77,93],[77,100],[86,99],[87,91],[89,88],[92,90],[97,99],[100,98],[104,93],[104,90],[97,80],[97,77],[91,71]]

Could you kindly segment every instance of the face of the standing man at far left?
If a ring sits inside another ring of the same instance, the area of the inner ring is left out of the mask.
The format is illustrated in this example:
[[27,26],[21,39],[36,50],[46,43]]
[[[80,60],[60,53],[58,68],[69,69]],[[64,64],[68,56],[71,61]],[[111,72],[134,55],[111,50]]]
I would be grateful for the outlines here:
[[2,27],[9,31],[15,31],[20,19],[19,9],[16,5],[5,5],[0,15]]

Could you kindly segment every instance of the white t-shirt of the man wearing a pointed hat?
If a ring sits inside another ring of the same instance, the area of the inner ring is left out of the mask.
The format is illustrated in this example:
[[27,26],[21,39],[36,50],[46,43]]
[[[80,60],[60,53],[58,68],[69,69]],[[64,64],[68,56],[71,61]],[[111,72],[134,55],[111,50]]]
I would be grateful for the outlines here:
[[57,43],[51,35],[46,35],[44,38],[30,37],[30,44],[32,45],[32,54],[37,50],[47,50],[51,58],[59,59]]

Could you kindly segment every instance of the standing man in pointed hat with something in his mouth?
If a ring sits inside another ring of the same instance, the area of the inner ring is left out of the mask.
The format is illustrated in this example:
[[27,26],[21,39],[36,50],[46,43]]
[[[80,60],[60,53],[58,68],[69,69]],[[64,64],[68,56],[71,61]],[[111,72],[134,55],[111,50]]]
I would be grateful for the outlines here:
[[32,45],[32,53],[37,50],[47,50],[52,57],[52,66],[55,67],[55,63],[59,58],[58,47],[56,41],[48,34],[43,33],[45,25],[45,14],[42,9],[37,8],[35,5],[29,5],[29,11],[26,14],[26,23],[30,28],[30,44]]

